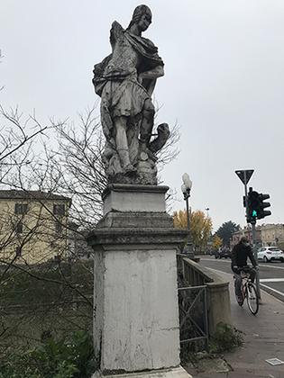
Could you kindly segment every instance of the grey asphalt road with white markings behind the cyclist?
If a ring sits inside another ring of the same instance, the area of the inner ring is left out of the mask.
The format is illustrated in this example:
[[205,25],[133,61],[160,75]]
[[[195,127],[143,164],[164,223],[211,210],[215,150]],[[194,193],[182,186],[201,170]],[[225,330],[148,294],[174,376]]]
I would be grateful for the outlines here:
[[[215,257],[201,256],[200,264],[208,268],[220,270],[221,272],[232,273],[231,259],[229,258],[215,259]],[[261,289],[284,302],[284,263],[259,262],[259,266]]]

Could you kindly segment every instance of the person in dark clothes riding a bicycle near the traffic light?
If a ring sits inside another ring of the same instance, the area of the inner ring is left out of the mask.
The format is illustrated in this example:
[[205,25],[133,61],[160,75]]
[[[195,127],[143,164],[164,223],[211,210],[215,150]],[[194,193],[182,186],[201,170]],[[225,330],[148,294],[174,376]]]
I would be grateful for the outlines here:
[[[253,268],[250,269],[250,277],[252,280],[252,283],[254,281],[255,275],[256,275],[256,269],[257,269],[257,263],[255,261],[255,258],[252,254],[252,247],[250,246],[249,240],[245,237],[242,237],[238,244],[236,244],[232,251],[232,270],[234,272],[235,277],[235,295],[238,298],[238,302],[243,302],[243,295],[241,290],[242,285],[242,277],[240,275],[240,270],[243,266],[247,266],[247,258],[250,258],[252,262]],[[247,271],[248,269],[246,269]]]

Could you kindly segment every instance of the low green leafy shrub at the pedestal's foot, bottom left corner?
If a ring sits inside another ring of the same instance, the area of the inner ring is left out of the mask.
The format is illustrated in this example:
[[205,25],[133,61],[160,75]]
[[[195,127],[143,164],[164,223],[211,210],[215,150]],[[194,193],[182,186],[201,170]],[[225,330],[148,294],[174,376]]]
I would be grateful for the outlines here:
[[11,354],[0,378],[87,378],[95,370],[92,337],[85,331],[65,338],[42,338],[32,350]]

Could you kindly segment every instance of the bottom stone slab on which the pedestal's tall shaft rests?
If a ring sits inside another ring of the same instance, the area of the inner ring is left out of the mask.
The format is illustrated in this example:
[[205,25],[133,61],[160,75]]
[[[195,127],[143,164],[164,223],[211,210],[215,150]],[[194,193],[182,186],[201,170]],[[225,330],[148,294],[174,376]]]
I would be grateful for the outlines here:
[[124,373],[115,375],[104,375],[100,372],[93,374],[92,378],[192,378],[181,366],[170,369],[150,370],[141,373]]

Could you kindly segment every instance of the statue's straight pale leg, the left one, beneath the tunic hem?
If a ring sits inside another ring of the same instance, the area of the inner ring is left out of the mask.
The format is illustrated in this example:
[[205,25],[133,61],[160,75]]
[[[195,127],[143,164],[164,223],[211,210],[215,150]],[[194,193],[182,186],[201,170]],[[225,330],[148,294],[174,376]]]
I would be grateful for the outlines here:
[[120,159],[121,166],[126,171],[134,171],[135,168],[132,166],[129,158],[129,149],[126,135],[126,117],[116,117],[115,118],[115,130],[116,130],[116,150]]

